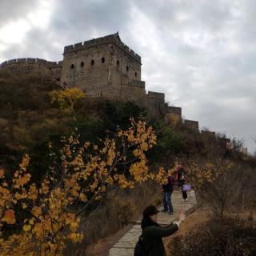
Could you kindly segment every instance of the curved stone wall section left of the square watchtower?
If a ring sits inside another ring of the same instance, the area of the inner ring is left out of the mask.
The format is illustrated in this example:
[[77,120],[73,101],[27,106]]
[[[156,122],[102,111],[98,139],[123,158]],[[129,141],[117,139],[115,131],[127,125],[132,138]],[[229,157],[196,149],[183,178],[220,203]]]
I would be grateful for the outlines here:
[[39,78],[60,78],[62,62],[48,62],[42,58],[17,58],[2,62],[0,71],[18,75],[35,75]]

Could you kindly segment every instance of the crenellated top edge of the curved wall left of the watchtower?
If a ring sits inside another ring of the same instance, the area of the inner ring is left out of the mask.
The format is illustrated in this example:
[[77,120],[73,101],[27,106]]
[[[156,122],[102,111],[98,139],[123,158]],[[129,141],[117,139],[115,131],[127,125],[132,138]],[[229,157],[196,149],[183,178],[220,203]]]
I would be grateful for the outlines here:
[[0,68],[3,68],[5,66],[10,66],[12,64],[20,64],[20,63],[24,63],[24,64],[44,64],[45,66],[48,67],[62,67],[62,61],[60,62],[49,62],[46,61],[46,59],[42,59],[42,58],[14,58],[14,59],[10,59],[6,62],[2,62],[0,64]]

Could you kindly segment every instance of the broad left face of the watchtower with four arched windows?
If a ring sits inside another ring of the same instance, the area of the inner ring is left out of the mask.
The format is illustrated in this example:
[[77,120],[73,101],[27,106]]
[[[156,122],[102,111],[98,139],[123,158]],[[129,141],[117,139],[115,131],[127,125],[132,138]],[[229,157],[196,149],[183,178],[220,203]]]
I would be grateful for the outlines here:
[[61,82],[99,97],[110,85],[110,46],[90,41],[64,48]]

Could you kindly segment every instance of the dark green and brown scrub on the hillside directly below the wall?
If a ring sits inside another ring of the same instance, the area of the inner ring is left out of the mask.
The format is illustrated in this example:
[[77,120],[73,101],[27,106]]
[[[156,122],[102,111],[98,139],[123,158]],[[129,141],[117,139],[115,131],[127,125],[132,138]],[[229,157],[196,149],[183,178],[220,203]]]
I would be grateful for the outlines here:
[[150,163],[169,166],[177,157],[211,154],[234,158],[235,153],[235,158],[242,158],[242,154],[230,154],[216,141],[204,140],[197,131],[188,130],[182,123],[166,125],[164,117],[150,117],[146,109],[134,102],[108,102],[85,96],[72,102],[70,110],[65,97],[63,102],[56,99],[56,92],[61,91],[54,83],[42,82],[39,78],[1,73],[0,167],[14,170],[22,155],[29,154],[30,172],[40,181],[50,163],[49,142],[58,152],[62,138],[76,130],[81,142],[99,143],[118,127],[127,129],[130,117],[154,127],[158,144],[147,153]]

